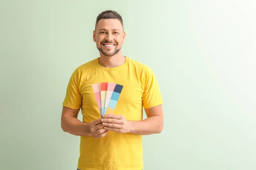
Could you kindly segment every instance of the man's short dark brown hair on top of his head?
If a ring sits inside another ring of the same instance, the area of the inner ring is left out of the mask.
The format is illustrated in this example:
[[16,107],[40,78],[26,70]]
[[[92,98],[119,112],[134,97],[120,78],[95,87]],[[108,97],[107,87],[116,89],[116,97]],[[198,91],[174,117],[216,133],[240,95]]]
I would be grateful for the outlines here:
[[95,31],[97,30],[97,26],[100,19],[117,19],[122,24],[122,28],[124,30],[122,16],[118,14],[116,11],[113,11],[113,10],[102,11],[102,13],[100,13],[96,18]]

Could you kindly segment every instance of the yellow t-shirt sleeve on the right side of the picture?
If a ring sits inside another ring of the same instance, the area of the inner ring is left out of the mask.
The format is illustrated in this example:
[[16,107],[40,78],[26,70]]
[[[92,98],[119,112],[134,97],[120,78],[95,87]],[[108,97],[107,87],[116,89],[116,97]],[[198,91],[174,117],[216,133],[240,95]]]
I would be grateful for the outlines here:
[[144,108],[152,108],[163,104],[160,88],[153,71],[149,69],[145,77],[145,89],[142,97]]

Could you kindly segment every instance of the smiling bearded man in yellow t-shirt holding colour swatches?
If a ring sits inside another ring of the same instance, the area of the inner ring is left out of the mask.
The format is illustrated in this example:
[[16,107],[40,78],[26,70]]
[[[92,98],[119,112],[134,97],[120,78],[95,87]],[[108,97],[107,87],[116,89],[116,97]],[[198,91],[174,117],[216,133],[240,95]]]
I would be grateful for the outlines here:
[[93,41],[100,57],[73,72],[61,127],[81,136],[78,170],[142,170],[142,135],[163,130],[157,79],[148,66],[122,55],[125,31],[116,11],[98,15]]

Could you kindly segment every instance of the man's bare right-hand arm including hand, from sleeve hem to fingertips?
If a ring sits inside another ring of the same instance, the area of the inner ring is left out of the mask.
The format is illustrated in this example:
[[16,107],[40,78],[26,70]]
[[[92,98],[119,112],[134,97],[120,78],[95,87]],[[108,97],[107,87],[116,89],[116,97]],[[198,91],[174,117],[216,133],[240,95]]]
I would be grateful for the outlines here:
[[150,135],[161,133],[163,130],[163,107],[158,105],[145,109],[147,119],[141,121],[128,121],[122,115],[106,114],[103,116],[103,124],[106,130],[119,133],[134,133],[139,135]]

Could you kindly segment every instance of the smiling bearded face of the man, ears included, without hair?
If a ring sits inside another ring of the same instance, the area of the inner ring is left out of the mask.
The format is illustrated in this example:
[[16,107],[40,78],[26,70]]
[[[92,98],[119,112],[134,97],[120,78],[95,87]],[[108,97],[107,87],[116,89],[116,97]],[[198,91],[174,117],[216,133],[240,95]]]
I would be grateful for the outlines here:
[[99,20],[96,32],[93,31],[93,41],[99,51],[105,56],[117,54],[125,42],[125,32],[117,19]]

